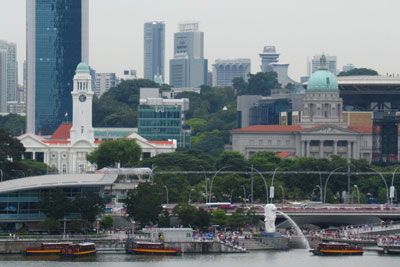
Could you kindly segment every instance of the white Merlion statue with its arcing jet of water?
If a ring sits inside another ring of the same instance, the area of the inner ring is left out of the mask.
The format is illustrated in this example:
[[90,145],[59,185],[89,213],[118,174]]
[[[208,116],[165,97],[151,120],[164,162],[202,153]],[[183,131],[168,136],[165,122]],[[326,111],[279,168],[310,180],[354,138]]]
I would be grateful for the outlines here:
[[310,249],[310,245],[308,244],[308,241],[307,241],[306,237],[304,236],[303,232],[301,231],[300,227],[287,214],[277,210],[277,208],[274,204],[267,204],[264,207],[265,232],[271,233],[271,234],[276,233],[275,220],[276,220],[277,213],[282,215],[283,217],[285,217],[292,224],[294,229],[296,229],[297,235],[299,235],[301,237],[302,244],[307,249]]

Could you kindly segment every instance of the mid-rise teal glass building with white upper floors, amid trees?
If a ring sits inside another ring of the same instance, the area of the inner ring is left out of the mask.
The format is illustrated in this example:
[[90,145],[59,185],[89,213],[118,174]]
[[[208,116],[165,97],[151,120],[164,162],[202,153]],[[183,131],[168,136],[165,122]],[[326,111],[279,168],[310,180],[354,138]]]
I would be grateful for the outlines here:
[[138,133],[151,141],[176,140],[190,147],[190,128],[184,127],[189,99],[164,99],[158,88],[141,88]]

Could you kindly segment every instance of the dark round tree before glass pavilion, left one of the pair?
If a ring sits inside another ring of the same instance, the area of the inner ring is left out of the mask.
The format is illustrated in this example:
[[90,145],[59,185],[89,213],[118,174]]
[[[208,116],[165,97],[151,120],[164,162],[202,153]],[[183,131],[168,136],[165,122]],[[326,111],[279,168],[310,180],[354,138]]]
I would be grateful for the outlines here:
[[72,210],[72,201],[68,198],[62,188],[50,191],[42,191],[39,197],[38,207],[46,217],[54,220],[65,218]]

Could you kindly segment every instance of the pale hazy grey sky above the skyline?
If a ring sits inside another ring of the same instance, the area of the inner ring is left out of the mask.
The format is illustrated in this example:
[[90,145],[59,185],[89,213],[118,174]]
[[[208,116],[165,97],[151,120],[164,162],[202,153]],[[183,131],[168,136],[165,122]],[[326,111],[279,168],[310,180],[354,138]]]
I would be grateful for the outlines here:
[[[25,0],[1,0],[0,39],[18,44],[25,58]],[[90,0],[90,65],[98,72],[131,68],[143,75],[143,23],[166,23],[166,61],[173,56],[173,33],[182,21],[200,22],[205,56],[251,58],[275,45],[290,76],[307,72],[307,57],[325,52],[338,68],[353,63],[380,73],[399,73],[399,0]],[[22,72],[20,72],[22,77]],[[21,79],[20,79],[21,80]]]

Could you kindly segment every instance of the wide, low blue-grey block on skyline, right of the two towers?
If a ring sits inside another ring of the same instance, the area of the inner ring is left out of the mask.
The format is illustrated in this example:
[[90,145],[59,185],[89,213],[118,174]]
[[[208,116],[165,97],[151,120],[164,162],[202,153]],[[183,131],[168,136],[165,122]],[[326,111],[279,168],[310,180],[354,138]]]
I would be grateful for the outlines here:
[[247,81],[250,71],[250,59],[217,59],[213,64],[212,86],[231,86],[232,80],[238,77]]

